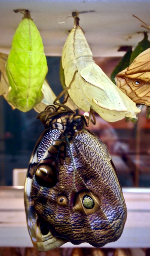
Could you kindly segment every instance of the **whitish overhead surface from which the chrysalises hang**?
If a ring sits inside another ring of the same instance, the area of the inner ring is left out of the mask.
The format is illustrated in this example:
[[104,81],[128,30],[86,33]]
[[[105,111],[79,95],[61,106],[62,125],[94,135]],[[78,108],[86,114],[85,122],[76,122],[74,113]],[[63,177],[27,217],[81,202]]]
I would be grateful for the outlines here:
[[119,46],[135,47],[143,39],[143,34],[137,32],[146,29],[132,14],[150,25],[150,0],[0,0],[0,52],[9,53],[22,19],[22,14],[13,12],[18,8],[30,11],[48,56],[61,56],[73,26],[73,18],[66,19],[72,11],[95,11],[80,15],[80,26],[95,57],[121,56]]

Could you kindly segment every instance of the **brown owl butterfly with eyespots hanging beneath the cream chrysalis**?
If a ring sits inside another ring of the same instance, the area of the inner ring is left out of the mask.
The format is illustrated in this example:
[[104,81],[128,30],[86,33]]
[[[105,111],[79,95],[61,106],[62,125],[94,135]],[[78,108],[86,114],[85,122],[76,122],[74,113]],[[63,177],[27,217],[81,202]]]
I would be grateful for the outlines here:
[[49,106],[38,118],[46,130],[31,156],[24,186],[33,245],[51,250],[70,241],[100,247],[116,241],[127,217],[106,146],[86,130],[83,115]]

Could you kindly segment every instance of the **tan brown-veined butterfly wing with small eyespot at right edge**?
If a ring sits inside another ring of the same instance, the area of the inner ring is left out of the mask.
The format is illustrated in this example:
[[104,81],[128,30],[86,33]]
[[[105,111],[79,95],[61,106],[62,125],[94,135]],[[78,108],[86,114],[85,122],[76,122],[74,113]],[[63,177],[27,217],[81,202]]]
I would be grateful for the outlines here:
[[118,88],[136,104],[150,106],[150,48],[140,53],[128,68],[119,72],[115,81]]

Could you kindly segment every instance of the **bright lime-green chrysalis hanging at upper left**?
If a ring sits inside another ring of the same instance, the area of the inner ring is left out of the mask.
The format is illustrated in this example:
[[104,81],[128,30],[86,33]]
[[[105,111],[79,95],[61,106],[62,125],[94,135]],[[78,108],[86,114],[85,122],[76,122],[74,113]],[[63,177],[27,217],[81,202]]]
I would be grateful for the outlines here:
[[48,71],[42,39],[27,10],[13,37],[6,64],[7,100],[26,112],[43,99],[41,87]]

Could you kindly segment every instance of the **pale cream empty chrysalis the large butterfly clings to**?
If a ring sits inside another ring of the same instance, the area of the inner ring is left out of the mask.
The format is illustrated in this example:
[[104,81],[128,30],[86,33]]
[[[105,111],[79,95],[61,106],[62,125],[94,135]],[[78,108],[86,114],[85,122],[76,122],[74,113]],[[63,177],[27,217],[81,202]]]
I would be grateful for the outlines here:
[[136,118],[140,110],[106,76],[93,60],[93,54],[73,12],[74,26],[63,47],[62,66],[70,98],[78,108],[94,109],[104,120],[115,122],[125,116]]

